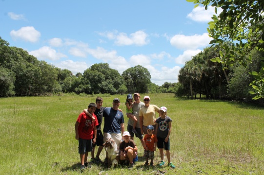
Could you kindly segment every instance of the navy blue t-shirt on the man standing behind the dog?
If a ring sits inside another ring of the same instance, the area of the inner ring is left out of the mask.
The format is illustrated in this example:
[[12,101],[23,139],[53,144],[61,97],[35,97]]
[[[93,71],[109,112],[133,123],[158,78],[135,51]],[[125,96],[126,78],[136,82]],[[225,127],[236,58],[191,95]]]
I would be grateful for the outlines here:
[[103,132],[106,133],[121,133],[121,123],[124,123],[123,113],[115,110],[112,107],[103,109],[104,126]]

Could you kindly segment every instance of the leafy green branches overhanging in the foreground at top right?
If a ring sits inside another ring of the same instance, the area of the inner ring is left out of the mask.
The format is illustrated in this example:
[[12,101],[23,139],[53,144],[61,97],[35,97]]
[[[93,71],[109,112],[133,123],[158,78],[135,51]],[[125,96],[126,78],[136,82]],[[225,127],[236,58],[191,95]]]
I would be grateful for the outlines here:
[[[205,9],[208,5],[222,8],[223,12],[217,17],[212,17],[207,31],[212,37],[210,44],[218,45],[220,57],[212,59],[214,62],[223,64],[223,69],[227,66],[233,66],[239,62],[247,67],[248,60],[244,58],[250,54],[253,49],[264,52],[264,1],[263,0],[187,0],[195,4],[203,4]],[[226,44],[231,43],[231,44]],[[250,86],[255,89],[255,98],[264,98],[264,63],[259,72],[251,72],[254,81]],[[252,93],[252,92],[251,92]]]

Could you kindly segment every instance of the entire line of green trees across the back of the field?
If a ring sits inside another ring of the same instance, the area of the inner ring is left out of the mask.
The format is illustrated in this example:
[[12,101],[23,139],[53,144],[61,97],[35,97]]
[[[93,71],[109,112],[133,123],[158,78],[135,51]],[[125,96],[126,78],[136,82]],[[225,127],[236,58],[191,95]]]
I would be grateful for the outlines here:
[[247,68],[234,63],[228,69],[223,69],[223,65],[218,62],[210,61],[219,56],[218,54],[217,48],[205,48],[185,63],[178,75],[178,83],[165,82],[158,86],[150,81],[149,71],[140,65],[120,74],[107,63],[99,63],[83,73],[73,75],[70,70],[61,70],[45,61],[39,61],[21,48],[9,47],[9,43],[0,37],[0,96],[139,92],[252,101],[254,95],[249,94],[248,91],[252,89],[248,85],[253,77],[248,72],[261,68],[264,53],[253,50]]

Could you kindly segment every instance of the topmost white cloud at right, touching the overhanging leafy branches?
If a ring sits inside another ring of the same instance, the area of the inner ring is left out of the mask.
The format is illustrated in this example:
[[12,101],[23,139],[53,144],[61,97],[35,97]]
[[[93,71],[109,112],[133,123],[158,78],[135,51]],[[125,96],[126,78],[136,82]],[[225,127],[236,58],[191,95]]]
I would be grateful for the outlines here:
[[[223,10],[221,8],[217,9],[217,14],[220,14]],[[209,22],[215,14],[215,7],[208,6],[208,9],[205,10],[203,6],[198,6],[192,10],[191,13],[187,15],[187,18],[197,22]]]

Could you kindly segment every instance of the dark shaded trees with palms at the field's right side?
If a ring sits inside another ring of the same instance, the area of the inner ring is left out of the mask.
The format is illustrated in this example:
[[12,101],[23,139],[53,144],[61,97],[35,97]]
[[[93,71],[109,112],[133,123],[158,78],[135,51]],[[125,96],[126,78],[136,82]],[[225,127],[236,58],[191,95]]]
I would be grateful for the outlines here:
[[[220,98],[230,100],[252,101],[254,95],[249,84],[254,77],[248,72],[261,68],[264,53],[252,50],[251,61],[244,67],[239,61],[223,68],[223,64],[212,62],[211,59],[220,56],[221,50],[217,46],[205,48],[201,53],[187,61],[178,75],[179,83],[175,88],[176,97]],[[244,60],[248,60],[247,57]]]

